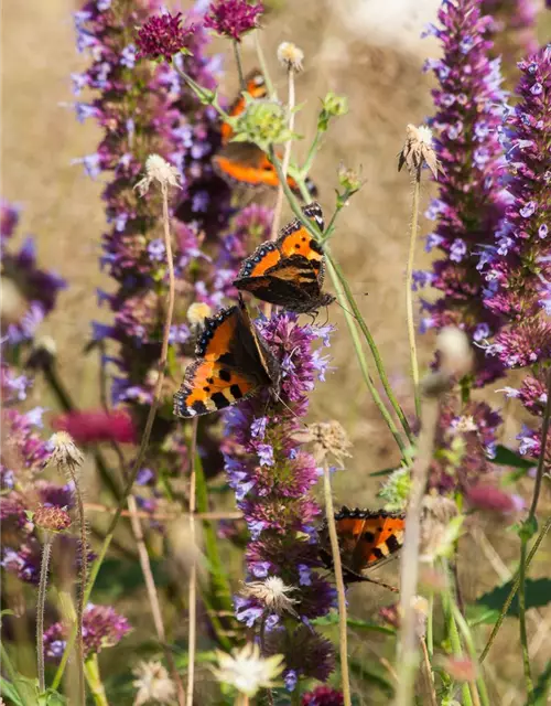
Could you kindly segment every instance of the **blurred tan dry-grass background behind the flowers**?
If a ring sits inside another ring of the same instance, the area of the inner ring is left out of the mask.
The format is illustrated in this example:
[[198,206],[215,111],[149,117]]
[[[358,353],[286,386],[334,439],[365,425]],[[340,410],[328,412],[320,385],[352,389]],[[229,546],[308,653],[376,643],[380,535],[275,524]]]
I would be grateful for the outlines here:
[[[294,41],[305,53],[305,72],[296,86],[298,100],[306,100],[298,117],[298,131],[305,136],[296,148],[299,153],[315,129],[318,99],[327,90],[349,97],[349,115],[331,128],[312,176],[320,186],[322,206],[329,211],[339,163],[363,167],[366,185],[343,212],[333,247],[400,400],[410,411],[404,307],[410,186],[408,176],[397,172],[397,153],[406,125],[420,124],[432,111],[431,79],[422,74],[421,66],[426,55],[436,54],[437,47],[430,40],[421,42],[418,38],[423,24],[434,19],[437,2],[278,0],[274,4],[264,22],[264,50],[282,97],[285,82],[274,60],[277,45],[283,40]],[[54,338],[65,383],[75,399],[91,407],[98,404],[97,357],[85,355],[83,349],[90,333],[89,321],[109,320],[109,312],[97,308],[96,287],[109,289],[112,285],[98,267],[105,223],[99,197],[101,181],[93,182],[79,167],[71,165],[72,159],[94,152],[100,137],[91,121],[79,125],[74,113],[64,106],[74,99],[69,73],[86,65],[86,57],[74,49],[71,12],[75,9],[67,0],[3,0],[0,192],[23,206],[20,233],[36,234],[40,261],[57,270],[69,284],[39,335]],[[226,50],[226,45],[219,46]],[[247,43],[245,63],[247,68],[256,65]],[[229,53],[227,66],[225,88],[231,93],[237,82]],[[424,203],[431,192],[432,188],[426,186]],[[424,223],[423,227],[429,225]],[[417,266],[428,261],[420,244]],[[347,470],[335,475],[337,502],[372,504],[378,479],[369,473],[396,464],[399,453],[360,382],[336,304],[329,319],[339,327],[331,349],[334,371],[314,394],[311,418],[338,419],[354,441],[354,458]],[[431,336],[420,339],[422,367],[430,361],[431,346]],[[54,407],[53,399],[40,386],[33,395],[31,404]],[[501,400],[496,395],[496,406]],[[503,438],[503,442],[511,446],[517,428],[514,417],[512,414]],[[529,484],[526,490],[530,491]],[[544,489],[540,507],[542,511],[550,507],[549,488]],[[498,568],[514,570],[518,556],[518,538],[512,532],[491,520],[475,523],[488,534],[505,565],[499,567],[494,559],[491,568],[475,542],[465,538],[460,574],[467,599],[499,582]],[[544,574],[550,558],[548,542],[531,575]],[[392,577],[396,566],[385,571]],[[366,617],[392,600],[369,585],[354,588],[350,596],[352,613]],[[543,629],[539,634],[545,639],[551,625],[549,609],[540,611],[541,619],[533,610],[530,614],[532,634],[536,623],[540,623]],[[545,619],[550,622],[542,623]],[[355,641],[354,656],[377,663],[378,644],[372,639]],[[534,661],[537,671],[543,667],[549,649],[549,642],[542,643]],[[520,684],[521,664],[516,624],[514,628],[511,622],[501,631],[488,662],[494,674],[494,698],[499,699],[493,703],[518,703],[515,686]],[[366,695],[360,703],[374,702]]]

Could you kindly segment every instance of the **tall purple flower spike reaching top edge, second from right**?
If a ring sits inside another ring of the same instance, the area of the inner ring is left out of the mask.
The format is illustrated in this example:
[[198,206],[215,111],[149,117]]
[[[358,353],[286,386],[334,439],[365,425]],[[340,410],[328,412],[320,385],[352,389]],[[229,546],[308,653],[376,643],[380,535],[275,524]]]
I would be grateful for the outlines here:
[[[505,208],[499,135],[505,95],[499,60],[489,58],[491,20],[482,14],[480,1],[444,2],[439,20],[441,26],[429,31],[440,40],[443,57],[428,61],[425,68],[439,82],[430,125],[444,173],[439,196],[426,212],[435,222],[426,250],[437,248],[444,257],[434,261],[431,272],[417,275],[419,285],[430,284],[442,292],[435,302],[423,302],[428,315],[422,328],[457,325],[478,343],[498,330],[500,320],[484,307],[489,287],[479,263],[494,244]],[[499,361],[484,361],[475,371],[475,383],[496,378],[500,370]]]

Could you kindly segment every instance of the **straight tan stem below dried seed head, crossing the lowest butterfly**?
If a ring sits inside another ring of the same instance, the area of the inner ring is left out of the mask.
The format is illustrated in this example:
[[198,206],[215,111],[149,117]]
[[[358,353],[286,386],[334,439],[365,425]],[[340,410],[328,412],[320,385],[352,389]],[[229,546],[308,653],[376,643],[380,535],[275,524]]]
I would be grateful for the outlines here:
[[348,674],[348,633],[346,630],[346,592],[343,579],[343,567],[341,564],[341,550],[338,547],[337,531],[335,527],[335,509],[333,506],[333,495],[331,492],[331,473],[327,461],[323,466],[323,488],[325,496],[325,516],[329,531],[331,553],[338,597],[338,649],[341,651],[341,678],[343,681],[344,706],[352,706],[350,677]]

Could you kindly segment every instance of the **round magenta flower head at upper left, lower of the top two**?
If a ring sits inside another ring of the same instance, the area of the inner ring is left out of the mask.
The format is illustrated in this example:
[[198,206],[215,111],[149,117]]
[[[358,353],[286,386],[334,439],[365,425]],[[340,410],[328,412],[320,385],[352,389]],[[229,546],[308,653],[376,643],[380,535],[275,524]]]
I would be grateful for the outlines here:
[[138,30],[137,58],[164,58],[169,64],[174,54],[190,51],[192,38],[197,31],[195,24],[182,26],[182,12],[170,12],[149,18]]

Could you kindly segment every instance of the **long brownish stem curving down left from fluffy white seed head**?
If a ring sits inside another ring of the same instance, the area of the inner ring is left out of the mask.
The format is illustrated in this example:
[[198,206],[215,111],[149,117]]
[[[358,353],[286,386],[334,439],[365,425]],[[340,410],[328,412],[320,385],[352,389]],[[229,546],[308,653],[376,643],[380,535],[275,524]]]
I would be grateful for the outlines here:
[[[88,602],[90,598],[94,584],[99,574],[99,569],[101,568],[101,564],[107,555],[109,545],[111,544],[111,539],[115,535],[117,523],[119,522],[119,518],[122,514],[122,509],[125,507],[128,496],[132,492],[132,486],[134,484],[136,477],[138,475],[141,469],[143,459],[145,457],[145,451],[148,449],[149,439],[151,437],[153,422],[155,420],[156,410],[161,402],[161,393],[162,393],[162,387],[164,382],[164,371],[165,371],[166,361],[169,357],[169,338],[170,338],[170,331],[172,325],[172,317],[174,313],[174,292],[175,292],[174,263],[172,259],[172,245],[171,245],[171,237],[170,237],[169,192],[168,192],[166,184],[162,184],[162,195],[163,195],[164,240],[165,240],[165,248],[166,248],[166,259],[169,264],[169,296],[168,296],[168,303],[166,303],[166,315],[165,315],[164,325],[163,325],[163,340],[161,343],[161,355],[159,359],[159,375],[158,375],[155,387],[153,391],[153,399],[151,402],[151,407],[149,408],[148,418],[145,420],[145,428],[143,429],[143,436],[141,438],[138,456],[136,457],[133,466],[128,475],[128,480],[122,490],[122,494],[121,494],[119,504],[117,506],[117,510],[111,518],[111,522],[109,523],[109,527],[107,528],[104,544],[99,549],[96,560],[91,565],[88,586],[86,587],[86,591],[85,591],[85,605]],[[60,666],[57,667],[57,672],[55,673],[54,680],[52,682],[53,688],[57,688],[60,686],[75,638],[76,638],[76,631],[73,631],[67,639],[67,643],[65,645],[65,651],[60,662]]]

